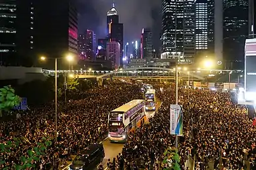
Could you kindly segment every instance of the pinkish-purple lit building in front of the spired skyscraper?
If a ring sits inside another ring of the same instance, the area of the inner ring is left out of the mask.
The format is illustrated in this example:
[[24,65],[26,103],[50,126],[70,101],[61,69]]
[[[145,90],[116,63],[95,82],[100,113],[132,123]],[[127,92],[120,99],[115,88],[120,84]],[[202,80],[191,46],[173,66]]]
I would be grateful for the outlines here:
[[121,52],[119,42],[107,42],[106,60],[110,60],[112,62],[112,67],[114,69],[118,69],[120,67]]

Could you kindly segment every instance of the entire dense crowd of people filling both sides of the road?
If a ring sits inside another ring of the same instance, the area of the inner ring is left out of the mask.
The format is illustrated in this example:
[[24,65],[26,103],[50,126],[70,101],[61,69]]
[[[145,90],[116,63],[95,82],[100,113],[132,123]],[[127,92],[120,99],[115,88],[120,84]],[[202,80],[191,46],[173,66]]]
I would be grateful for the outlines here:
[[[161,167],[162,154],[175,146],[169,131],[170,105],[175,104],[174,84],[150,82],[162,105],[149,122],[137,128],[126,142],[123,152],[109,169],[152,169]],[[160,91],[161,88],[161,91]],[[183,106],[183,137],[178,146],[181,169],[256,169],[256,128],[248,118],[245,106],[237,105],[231,93],[209,89],[179,88],[178,103]],[[19,120],[0,124],[0,143],[20,137],[22,144],[11,152],[1,153],[3,167],[22,164],[19,157],[28,157],[27,150],[37,146],[42,137],[52,137],[46,154],[35,161],[37,169],[56,169],[59,159],[76,154],[87,145],[104,139],[107,113],[132,99],[142,99],[135,84],[113,82],[104,88],[87,91],[85,98],[58,105],[58,139],[54,139],[54,105],[34,108]],[[100,166],[99,168],[102,168]],[[11,169],[11,168],[10,168]]]

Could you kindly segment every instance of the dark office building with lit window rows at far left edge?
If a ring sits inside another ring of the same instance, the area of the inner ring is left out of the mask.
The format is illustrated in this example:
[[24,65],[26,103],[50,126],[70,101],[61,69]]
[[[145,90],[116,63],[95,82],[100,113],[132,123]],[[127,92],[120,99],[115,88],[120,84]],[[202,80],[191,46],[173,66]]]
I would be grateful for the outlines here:
[[16,50],[16,1],[0,3],[0,65],[9,64]]

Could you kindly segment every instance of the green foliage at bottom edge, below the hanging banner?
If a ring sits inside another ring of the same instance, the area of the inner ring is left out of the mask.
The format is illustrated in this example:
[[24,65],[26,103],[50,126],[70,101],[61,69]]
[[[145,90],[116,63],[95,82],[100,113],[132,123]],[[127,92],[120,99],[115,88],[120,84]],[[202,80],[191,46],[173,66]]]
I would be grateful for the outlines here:
[[169,147],[164,152],[164,160],[162,161],[162,167],[164,170],[180,170],[180,156],[178,155],[178,149]]

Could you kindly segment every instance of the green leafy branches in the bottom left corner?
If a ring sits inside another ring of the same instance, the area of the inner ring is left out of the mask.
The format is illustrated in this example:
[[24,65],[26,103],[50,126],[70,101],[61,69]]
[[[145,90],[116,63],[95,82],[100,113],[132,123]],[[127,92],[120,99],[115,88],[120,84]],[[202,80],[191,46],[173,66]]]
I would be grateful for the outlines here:
[[[20,145],[23,145],[24,139],[14,138],[12,141],[6,142],[6,144],[0,144],[0,154],[6,155],[11,153],[11,149],[18,149]],[[32,149],[27,150],[27,155],[20,157],[20,162],[22,164],[16,164],[15,169],[28,169],[30,167],[35,167],[36,165],[32,162],[39,161],[40,156],[45,155],[47,147],[51,146],[52,142],[50,138],[42,137],[40,142],[37,142],[37,147],[32,147]],[[6,160],[0,157],[0,166],[4,165],[3,170],[11,169],[11,167],[6,164]]]

